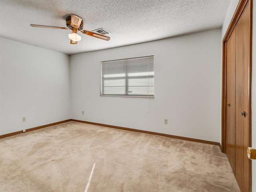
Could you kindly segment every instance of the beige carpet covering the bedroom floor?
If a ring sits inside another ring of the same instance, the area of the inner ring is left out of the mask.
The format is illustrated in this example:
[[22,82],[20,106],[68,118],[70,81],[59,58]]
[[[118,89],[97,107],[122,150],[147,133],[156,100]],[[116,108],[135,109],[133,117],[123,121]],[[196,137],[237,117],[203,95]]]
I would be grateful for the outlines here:
[[239,192],[218,146],[66,122],[0,139],[0,192]]

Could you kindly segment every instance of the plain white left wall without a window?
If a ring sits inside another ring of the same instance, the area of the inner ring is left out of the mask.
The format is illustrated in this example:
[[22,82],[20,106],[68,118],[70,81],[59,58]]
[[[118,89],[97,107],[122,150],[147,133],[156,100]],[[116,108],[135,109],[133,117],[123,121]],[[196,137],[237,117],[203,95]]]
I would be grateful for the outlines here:
[[0,51],[0,135],[70,119],[70,56],[4,38]]

